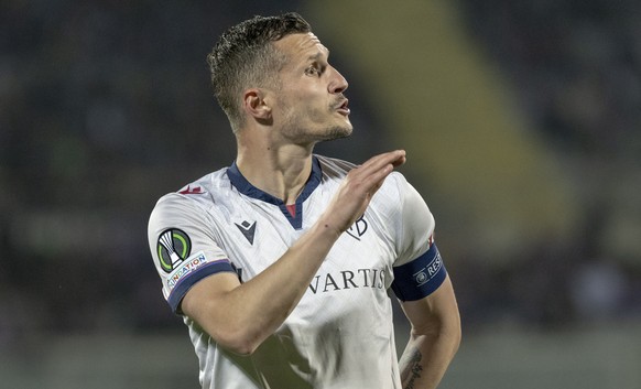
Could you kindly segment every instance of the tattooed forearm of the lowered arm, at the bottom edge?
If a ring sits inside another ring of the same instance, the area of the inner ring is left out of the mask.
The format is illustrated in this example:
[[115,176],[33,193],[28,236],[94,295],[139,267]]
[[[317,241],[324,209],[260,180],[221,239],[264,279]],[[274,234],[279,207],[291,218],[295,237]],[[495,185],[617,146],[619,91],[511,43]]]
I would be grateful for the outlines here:
[[403,389],[434,389],[454,358],[459,333],[412,334],[399,361]]

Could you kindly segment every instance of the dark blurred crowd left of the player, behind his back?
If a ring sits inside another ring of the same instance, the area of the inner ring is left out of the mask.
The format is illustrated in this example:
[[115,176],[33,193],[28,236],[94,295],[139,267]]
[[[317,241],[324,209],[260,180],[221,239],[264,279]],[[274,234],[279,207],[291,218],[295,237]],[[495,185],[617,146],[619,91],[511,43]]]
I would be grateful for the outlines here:
[[0,2],[0,345],[176,325],[146,220],[232,161],[205,57],[278,6]]

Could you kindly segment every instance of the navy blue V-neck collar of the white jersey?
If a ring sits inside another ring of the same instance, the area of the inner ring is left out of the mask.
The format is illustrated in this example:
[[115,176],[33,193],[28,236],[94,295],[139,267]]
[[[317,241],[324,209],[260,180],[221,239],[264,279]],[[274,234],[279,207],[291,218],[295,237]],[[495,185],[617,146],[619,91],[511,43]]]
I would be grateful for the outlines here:
[[259,190],[258,187],[253,186],[247,179],[240,173],[240,170],[236,165],[236,161],[227,169],[227,176],[229,181],[238,192],[242,193],[246,196],[260,199],[265,203],[273,204],[278,206],[283,216],[290,221],[292,227],[295,229],[301,229],[303,227],[303,203],[309,197],[312,192],[320,184],[320,180],[323,179],[323,172],[320,170],[320,162],[316,156],[312,156],[312,172],[309,173],[309,179],[305,183],[305,187],[296,198],[296,215],[292,216],[287,210],[287,205],[281,199],[271,194]]

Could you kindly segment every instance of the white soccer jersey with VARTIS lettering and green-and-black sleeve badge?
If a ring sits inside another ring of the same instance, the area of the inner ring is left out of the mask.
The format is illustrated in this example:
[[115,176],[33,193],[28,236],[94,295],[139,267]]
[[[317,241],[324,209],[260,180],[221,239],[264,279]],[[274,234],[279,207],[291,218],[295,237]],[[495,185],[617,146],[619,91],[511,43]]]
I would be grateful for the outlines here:
[[[174,312],[182,313],[181,300],[205,277],[233,271],[247,282],[274,263],[314,225],[354,166],[314,155],[295,209],[252,186],[235,164],[163,196],[149,241]],[[226,350],[184,317],[203,388],[400,389],[388,291],[394,267],[425,255],[433,230],[425,202],[392,173],[336,241],[298,305],[251,356]],[[431,266],[443,268],[441,257]]]

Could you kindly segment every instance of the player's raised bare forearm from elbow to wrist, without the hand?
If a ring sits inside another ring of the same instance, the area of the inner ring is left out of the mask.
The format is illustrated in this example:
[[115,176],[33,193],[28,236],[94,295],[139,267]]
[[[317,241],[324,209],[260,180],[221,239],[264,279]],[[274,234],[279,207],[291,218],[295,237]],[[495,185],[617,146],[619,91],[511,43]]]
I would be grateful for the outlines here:
[[[183,307],[195,312],[193,318],[220,344],[239,354],[251,354],[294,310],[338,236],[319,220],[251,280],[208,294],[204,301],[185,299]],[[195,303],[200,304],[198,310],[185,306]]]

